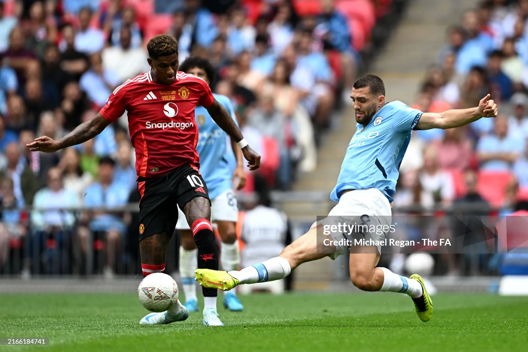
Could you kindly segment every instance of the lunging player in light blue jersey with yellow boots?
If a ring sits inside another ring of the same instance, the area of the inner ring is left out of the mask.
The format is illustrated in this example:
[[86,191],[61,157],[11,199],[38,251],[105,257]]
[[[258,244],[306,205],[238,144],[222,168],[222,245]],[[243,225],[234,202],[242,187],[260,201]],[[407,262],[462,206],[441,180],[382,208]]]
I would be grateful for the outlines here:
[[[478,107],[441,113],[421,112],[400,101],[386,103],[383,81],[372,74],[354,82],[351,98],[357,130],[348,144],[337,184],[331,194],[331,198],[339,203],[328,215],[360,217],[373,222],[380,221],[376,219],[388,219],[389,224],[398,169],[409,145],[411,131],[455,128],[482,117],[497,116],[497,105],[489,99],[489,94],[480,100]],[[316,229],[320,227],[318,222],[314,223],[312,229],[287,246],[276,258],[240,271],[198,269],[195,277],[204,287],[230,290],[243,283],[279,280],[301,263],[324,256],[335,259],[335,256],[345,254],[349,246],[334,242],[343,239],[343,233],[326,237],[332,241],[327,251],[318,249],[317,242],[319,245],[324,242],[317,239]],[[380,239],[384,237],[385,234],[382,234]],[[379,259],[379,246],[354,246],[349,263],[352,283],[364,291],[406,293],[412,298],[420,320],[429,321],[432,302],[420,275],[413,274],[406,278],[389,269],[376,268]]]

